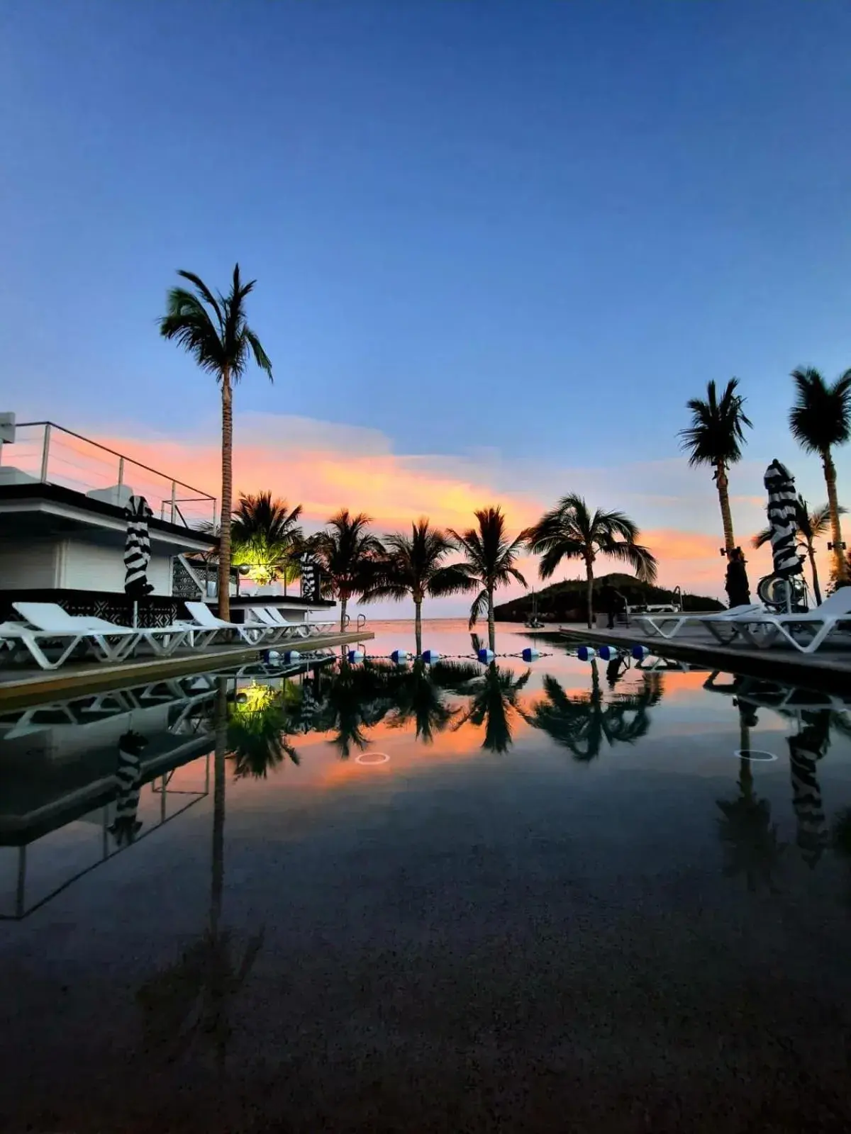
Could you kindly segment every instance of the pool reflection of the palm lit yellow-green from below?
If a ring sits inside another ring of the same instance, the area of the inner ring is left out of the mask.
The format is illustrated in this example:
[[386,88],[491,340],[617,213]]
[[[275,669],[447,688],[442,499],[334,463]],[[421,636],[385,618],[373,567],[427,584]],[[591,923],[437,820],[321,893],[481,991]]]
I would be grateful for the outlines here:
[[242,703],[230,706],[227,725],[227,750],[234,761],[234,776],[266,779],[269,769],[280,767],[286,756],[297,764],[298,753],[286,737],[289,713],[285,691],[253,685],[245,691],[244,697]]

